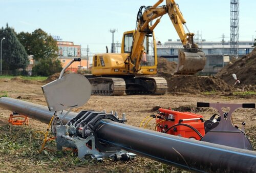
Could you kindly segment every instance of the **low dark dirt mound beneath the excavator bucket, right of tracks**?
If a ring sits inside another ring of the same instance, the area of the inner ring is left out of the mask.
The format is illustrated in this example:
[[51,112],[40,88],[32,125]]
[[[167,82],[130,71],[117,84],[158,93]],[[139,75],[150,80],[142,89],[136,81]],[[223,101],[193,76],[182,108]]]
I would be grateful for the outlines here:
[[198,92],[231,92],[233,87],[223,80],[214,76],[193,75],[166,75],[161,73],[167,80],[168,92],[198,93]]

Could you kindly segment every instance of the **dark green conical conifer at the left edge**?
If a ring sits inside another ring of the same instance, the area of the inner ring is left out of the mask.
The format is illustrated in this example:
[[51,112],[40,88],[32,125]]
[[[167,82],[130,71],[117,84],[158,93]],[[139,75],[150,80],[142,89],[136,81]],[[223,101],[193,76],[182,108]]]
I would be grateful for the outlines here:
[[0,38],[5,37],[2,42],[2,69],[18,70],[26,69],[29,64],[28,54],[16,37],[14,29],[6,24],[6,28],[0,30]]

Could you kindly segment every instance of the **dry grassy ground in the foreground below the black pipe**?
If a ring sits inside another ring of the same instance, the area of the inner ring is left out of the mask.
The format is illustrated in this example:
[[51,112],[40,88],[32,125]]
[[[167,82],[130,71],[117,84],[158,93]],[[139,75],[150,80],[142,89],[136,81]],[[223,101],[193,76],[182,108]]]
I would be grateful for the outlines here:
[[33,138],[34,132],[30,126],[0,125],[0,161],[5,163],[0,164],[1,172],[184,172],[140,156],[128,162],[81,161],[72,150],[56,151],[55,141],[45,146],[53,152],[38,153],[42,140]]

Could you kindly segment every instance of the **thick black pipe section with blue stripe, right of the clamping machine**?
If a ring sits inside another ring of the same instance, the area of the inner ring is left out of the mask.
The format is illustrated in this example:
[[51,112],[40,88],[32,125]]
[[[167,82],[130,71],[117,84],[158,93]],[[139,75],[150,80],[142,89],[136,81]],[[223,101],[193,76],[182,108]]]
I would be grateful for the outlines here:
[[196,172],[256,172],[256,152],[101,121],[97,137],[129,152]]

